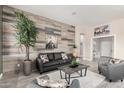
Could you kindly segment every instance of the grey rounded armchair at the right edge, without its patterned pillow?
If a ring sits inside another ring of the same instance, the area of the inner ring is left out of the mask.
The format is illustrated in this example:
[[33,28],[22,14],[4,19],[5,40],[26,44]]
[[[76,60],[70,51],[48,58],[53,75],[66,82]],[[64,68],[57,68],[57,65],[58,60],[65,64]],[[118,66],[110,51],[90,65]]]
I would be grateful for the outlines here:
[[98,62],[98,71],[103,74],[110,82],[124,79],[124,60],[118,64],[110,64],[111,57],[102,56]]

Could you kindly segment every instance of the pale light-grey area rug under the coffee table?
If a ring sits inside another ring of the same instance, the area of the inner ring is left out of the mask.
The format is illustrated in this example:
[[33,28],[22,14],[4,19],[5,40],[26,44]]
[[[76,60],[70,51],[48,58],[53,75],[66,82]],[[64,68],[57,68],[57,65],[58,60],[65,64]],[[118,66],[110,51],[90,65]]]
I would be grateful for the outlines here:
[[[47,74],[50,79],[53,80],[58,80],[60,79],[60,73],[59,71],[55,71],[52,73]],[[72,77],[78,76],[77,73],[74,73]],[[64,78],[64,73],[63,73],[63,78]],[[71,81],[75,78],[71,78]],[[87,75],[83,77],[77,77],[76,79],[79,80],[80,82],[80,87],[81,88],[95,88],[97,87],[101,82],[105,80],[105,77],[102,75],[99,75],[97,73],[94,73],[90,70],[87,71]]]

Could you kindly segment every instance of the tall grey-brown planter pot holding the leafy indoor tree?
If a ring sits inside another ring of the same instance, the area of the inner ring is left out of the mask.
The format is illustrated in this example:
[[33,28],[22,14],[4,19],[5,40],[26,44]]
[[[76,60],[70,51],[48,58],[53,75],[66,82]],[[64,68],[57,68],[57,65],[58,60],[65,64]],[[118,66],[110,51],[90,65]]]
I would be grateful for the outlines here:
[[32,72],[32,61],[24,61],[23,62],[23,67],[24,67],[24,75],[28,76]]

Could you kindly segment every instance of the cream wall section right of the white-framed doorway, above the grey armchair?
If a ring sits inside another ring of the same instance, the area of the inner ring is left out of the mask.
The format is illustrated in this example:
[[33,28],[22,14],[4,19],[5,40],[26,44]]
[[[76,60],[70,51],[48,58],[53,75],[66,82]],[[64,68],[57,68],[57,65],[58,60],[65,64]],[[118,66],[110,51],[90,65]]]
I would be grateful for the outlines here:
[[124,59],[124,19],[110,23],[112,35],[115,35],[114,57]]

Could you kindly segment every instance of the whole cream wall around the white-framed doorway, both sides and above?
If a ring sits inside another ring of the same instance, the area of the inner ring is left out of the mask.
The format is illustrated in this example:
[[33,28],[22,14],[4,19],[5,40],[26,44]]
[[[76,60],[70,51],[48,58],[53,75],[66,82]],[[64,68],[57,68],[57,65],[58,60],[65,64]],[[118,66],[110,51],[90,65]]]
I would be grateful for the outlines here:
[[[110,35],[115,36],[114,43],[114,57],[124,59],[124,18],[114,20],[112,22],[104,23],[110,25],[111,33]],[[100,25],[104,25],[100,24]],[[92,38],[93,31],[95,27],[87,27],[87,26],[76,26],[76,44],[78,46],[78,53],[80,52],[80,33],[84,33],[84,59],[92,60]]]

